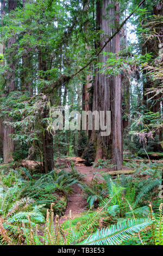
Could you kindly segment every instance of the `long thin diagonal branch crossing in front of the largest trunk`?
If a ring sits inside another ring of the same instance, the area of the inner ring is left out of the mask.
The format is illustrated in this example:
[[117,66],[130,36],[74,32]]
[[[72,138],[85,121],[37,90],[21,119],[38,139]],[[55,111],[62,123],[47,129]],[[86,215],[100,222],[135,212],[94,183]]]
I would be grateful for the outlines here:
[[128,17],[126,17],[126,19],[120,24],[120,26],[118,26],[118,28],[116,29],[116,31],[108,38],[108,40],[105,42],[105,44],[101,47],[101,49],[99,49],[96,53],[95,56],[93,56],[90,61],[83,66],[82,68],[80,68],[76,73],[72,74],[72,75],[60,75],[59,79],[55,82],[53,82],[51,88],[44,88],[42,90],[43,93],[53,93],[54,89],[60,87],[62,84],[69,82],[74,76],[76,76],[77,74],[79,74],[80,72],[82,72],[85,68],[87,68],[93,61],[95,61],[98,57],[98,55],[103,51],[104,47],[115,37],[115,35],[120,32],[121,28],[123,27],[123,25],[130,19],[130,17],[135,13],[135,11],[142,5],[142,3],[145,2],[145,0],[142,0],[137,7],[128,15]]

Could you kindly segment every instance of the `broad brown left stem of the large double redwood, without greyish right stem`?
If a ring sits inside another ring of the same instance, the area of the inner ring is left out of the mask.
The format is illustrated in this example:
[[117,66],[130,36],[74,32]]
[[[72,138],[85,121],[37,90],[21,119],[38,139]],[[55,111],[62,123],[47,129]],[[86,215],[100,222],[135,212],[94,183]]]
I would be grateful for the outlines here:
[[[96,7],[96,29],[103,30],[106,35],[111,34],[111,28],[108,25],[111,22],[111,9],[108,13],[109,0],[97,1]],[[102,47],[104,45],[104,39],[101,36],[96,47]],[[111,43],[105,46],[105,52],[111,51]],[[98,62],[106,62],[108,57],[101,55],[98,58]],[[93,85],[93,105],[92,111],[110,111],[111,110],[111,79],[108,76],[99,73],[99,68],[95,70],[95,82]],[[111,158],[111,136],[101,136],[101,131],[96,131],[94,128],[92,130],[92,142],[96,148],[95,162],[98,158],[105,159]]]

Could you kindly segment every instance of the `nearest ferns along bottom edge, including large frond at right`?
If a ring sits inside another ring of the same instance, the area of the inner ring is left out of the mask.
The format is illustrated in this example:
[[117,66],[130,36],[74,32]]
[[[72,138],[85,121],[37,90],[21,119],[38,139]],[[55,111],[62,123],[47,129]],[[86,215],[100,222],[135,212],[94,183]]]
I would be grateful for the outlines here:
[[[151,217],[149,218],[122,219],[116,224],[110,224],[109,227],[98,229],[97,227],[100,223],[99,216],[102,216],[102,213],[104,216],[104,210],[108,208],[111,200],[103,201],[101,205],[102,209],[98,209],[95,213],[84,213],[83,216],[73,220],[71,219],[70,212],[70,219],[62,225],[58,223],[58,216],[55,217],[55,225],[53,224],[54,215],[52,204],[51,210],[47,211],[46,229],[43,236],[38,234],[38,227],[33,232],[32,228],[30,228],[30,218],[28,218],[29,229],[24,229],[27,244],[127,245],[129,243],[131,245],[133,241],[133,244],[144,245],[147,244],[147,239],[148,244],[152,244],[153,242],[155,245],[162,244],[162,204],[159,205],[159,208],[157,205],[154,211],[152,210],[152,206],[149,206],[151,209]],[[154,235],[153,238],[151,232]],[[139,235],[136,236],[137,234]]]

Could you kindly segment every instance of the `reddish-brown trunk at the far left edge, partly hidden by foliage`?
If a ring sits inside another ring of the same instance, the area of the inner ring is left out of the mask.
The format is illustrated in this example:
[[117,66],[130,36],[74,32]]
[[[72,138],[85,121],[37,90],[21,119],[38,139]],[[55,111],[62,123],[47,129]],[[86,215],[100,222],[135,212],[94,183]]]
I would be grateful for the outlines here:
[[[8,1],[8,6],[9,6],[9,13],[12,10],[15,10],[17,6],[17,1],[16,0],[9,0]],[[12,47],[14,47],[14,44],[16,43],[16,37],[12,36],[7,43],[8,50]],[[14,51],[12,51],[14,52]],[[16,66],[16,61],[14,56],[10,54],[9,58],[7,59],[8,66],[9,66],[9,72],[7,74],[7,88],[6,91],[8,93],[14,92],[15,91],[15,66]],[[9,117],[5,118],[5,121],[11,121]],[[15,142],[12,140],[12,137],[10,134],[14,134],[14,128],[4,125],[3,127],[3,160],[4,163],[9,163],[13,160],[12,153],[15,150]]]

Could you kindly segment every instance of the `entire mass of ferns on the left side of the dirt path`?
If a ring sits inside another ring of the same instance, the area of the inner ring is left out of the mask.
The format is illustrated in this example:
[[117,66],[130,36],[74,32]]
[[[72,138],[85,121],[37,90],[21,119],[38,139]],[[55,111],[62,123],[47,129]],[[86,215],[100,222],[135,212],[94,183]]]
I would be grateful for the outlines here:
[[[28,180],[24,180],[24,175]],[[27,229],[29,216],[32,227],[43,222],[46,207],[51,207],[51,204],[55,214],[63,214],[66,195],[72,192],[71,186],[77,182],[74,180],[77,177],[81,178],[75,168],[70,172],[51,172],[47,175],[32,175],[26,168],[20,172],[1,171],[0,218],[3,227],[0,230],[3,233],[0,233],[0,240],[3,243],[18,242],[22,235],[22,223],[23,229]]]

